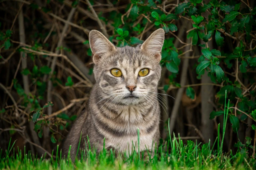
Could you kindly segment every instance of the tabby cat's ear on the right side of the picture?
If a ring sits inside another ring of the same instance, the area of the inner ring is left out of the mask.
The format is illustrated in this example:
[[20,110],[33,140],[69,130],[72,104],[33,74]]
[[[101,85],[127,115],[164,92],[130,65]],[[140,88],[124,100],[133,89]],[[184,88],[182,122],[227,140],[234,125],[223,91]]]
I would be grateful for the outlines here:
[[162,28],[154,31],[142,44],[141,50],[148,55],[154,55],[158,62],[161,61],[161,52],[164,41],[164,30]]

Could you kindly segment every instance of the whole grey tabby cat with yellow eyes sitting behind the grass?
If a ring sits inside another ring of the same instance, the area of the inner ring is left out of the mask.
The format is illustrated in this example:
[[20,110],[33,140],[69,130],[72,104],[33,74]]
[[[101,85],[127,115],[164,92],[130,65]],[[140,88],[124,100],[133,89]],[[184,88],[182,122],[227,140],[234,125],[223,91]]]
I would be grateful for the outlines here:
[[[66,137],[63,155],[68,154],[71,145],[71,159],[75,160],[80,135],[80,149],[88,147],[88,135],[91,147],[97,147],[97,151],[103,149],[105,138],[105,148],[131,153],[137,146],[137,129],[140,151],[151,151],[152,144],[158,146],[160,139],[157,86],[163,29],[154,31],[136,47],[115,47],[96,30],[89,33],[89,42],[96,83],[86,111],[77,117]],[[138,147],[135,149],[138,151]]]

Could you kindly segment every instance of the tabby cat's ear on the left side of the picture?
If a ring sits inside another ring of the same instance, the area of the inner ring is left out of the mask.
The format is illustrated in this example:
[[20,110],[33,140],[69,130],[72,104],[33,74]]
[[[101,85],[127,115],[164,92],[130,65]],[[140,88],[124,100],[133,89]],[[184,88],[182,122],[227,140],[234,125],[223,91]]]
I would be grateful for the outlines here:
[[115,46],[108,38],[96,30],[90,31],[89,42],[94,64],[97,64],[101,57],[105,57],[115,50]]

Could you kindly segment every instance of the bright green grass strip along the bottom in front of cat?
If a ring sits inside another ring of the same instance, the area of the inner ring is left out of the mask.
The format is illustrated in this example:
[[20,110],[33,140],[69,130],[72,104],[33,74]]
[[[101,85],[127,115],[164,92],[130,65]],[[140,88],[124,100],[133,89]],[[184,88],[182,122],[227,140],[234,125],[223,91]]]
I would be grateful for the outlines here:
[[[223,136],[225,135],[227,116],[228,110],[225,109]],[[50,159],[45,159],[46,154],[40,158],[32,156],[31,152],[22,153],[20,151],[10,155],[14,145],[11,146],[9,143],[5,152],[0,149],[0,155],[4,155],[0,156],[0,169],[255,169],[255,160],[250,160],[246,153],[241,154],[239,151],[234,154],[232,152],[223,153],[223,140],[219,143],[219,133],[218,128],[218,137],[212,147],[210,142],[202,145],[187,141],[184,144],[179,136],[176,138],[174,135],[174,138],[170,138],[171,140],[159,146],[154,156],[145,160],[141,159],[145,152],[136,153],[133,151],[128,156],[120,154],[116,156],[114,150],[104,148],[99,154],[96,154],[96,149],[83,150],[79,159],[73,163],[69,156],[66,159],[61,158],[59,147],[54,154],[56,158],[51,157]],[[139,145],[138,143],[138,147]],[[217,149],[213,149],[214,146]],[[149,154],[149,152],[147,153]]]

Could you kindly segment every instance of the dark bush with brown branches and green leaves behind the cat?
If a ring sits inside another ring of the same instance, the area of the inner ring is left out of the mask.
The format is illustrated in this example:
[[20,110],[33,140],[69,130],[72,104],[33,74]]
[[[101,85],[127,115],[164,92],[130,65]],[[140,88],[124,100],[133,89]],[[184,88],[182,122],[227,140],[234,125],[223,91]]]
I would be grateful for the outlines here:
[[254,157],[254,0],[1,0],[0,11],[1,148],[10,138],[39,154],[61,145],[94,84],[90,30],[122,47],[163,28],[162,94],[154,101],[162,139],[170,118],[170,134],[213,144],[227,91],[224,149]]

